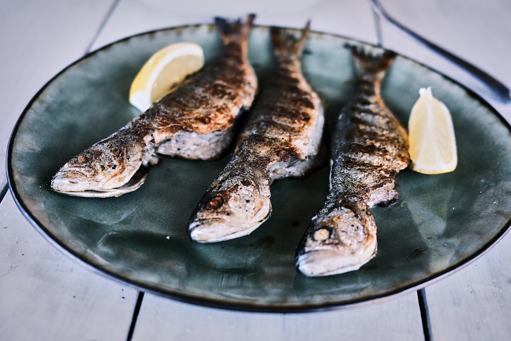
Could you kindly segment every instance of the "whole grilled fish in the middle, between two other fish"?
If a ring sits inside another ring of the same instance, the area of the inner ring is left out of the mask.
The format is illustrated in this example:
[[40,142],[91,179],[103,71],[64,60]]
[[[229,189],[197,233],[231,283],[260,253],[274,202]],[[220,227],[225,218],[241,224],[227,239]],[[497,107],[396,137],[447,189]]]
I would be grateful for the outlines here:
[[272,181],[304,176],[320,163],[323,109],[301,74],[308,34],[309,24],[299,38],[270,28],[275,70],[248,113],[229,163],[192,213],[192,240],[216,242],[249,234],[271,214]]

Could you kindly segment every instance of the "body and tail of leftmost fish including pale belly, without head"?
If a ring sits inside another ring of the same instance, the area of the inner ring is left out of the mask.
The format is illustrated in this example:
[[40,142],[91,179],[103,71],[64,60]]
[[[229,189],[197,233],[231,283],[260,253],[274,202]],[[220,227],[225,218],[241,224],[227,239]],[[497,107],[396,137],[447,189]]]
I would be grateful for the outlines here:
[[230,146],[236,135],[235,121],[250,108],[258,90],[248,59],[254,17],[250,14],[244,22],[216,17],[223,58],[148,109],[147,114],[157,118],[158,128],[151,138],[158,154],[214,160]]

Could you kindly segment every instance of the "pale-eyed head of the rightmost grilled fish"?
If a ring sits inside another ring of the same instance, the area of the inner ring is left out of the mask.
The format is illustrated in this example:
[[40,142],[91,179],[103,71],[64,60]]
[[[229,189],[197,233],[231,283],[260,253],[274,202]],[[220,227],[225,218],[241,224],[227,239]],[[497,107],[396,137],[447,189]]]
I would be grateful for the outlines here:
[[366,203],[323,208],[297,248],[296,266],[306,276],[358,270],[376,255],[376,223]]

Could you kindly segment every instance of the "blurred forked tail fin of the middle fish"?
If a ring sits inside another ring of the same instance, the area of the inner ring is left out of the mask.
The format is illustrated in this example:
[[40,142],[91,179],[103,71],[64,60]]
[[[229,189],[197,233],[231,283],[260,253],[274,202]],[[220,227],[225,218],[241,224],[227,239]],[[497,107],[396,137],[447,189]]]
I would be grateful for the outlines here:
[[299,37],[290,34],[286,29],[276,26],[270,27],[270,37],[275,55],[301,57],[309,37],[310,25],[311,21],[308,20]]

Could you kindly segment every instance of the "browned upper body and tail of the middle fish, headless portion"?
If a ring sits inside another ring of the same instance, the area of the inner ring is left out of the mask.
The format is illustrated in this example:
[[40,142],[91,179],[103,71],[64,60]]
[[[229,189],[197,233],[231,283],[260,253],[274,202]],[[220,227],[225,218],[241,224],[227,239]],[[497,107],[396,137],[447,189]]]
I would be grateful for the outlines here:
[[[276,66],[254,103],[236,150],[246,148],[267,164],[307,157],[300,142],[309,142],[317,124],[321,101],[301,74],[300,57],[309,23],[299,39],[287,39],[286,30],[271,27]],[[241,147],[243,146],[243,147]]]

